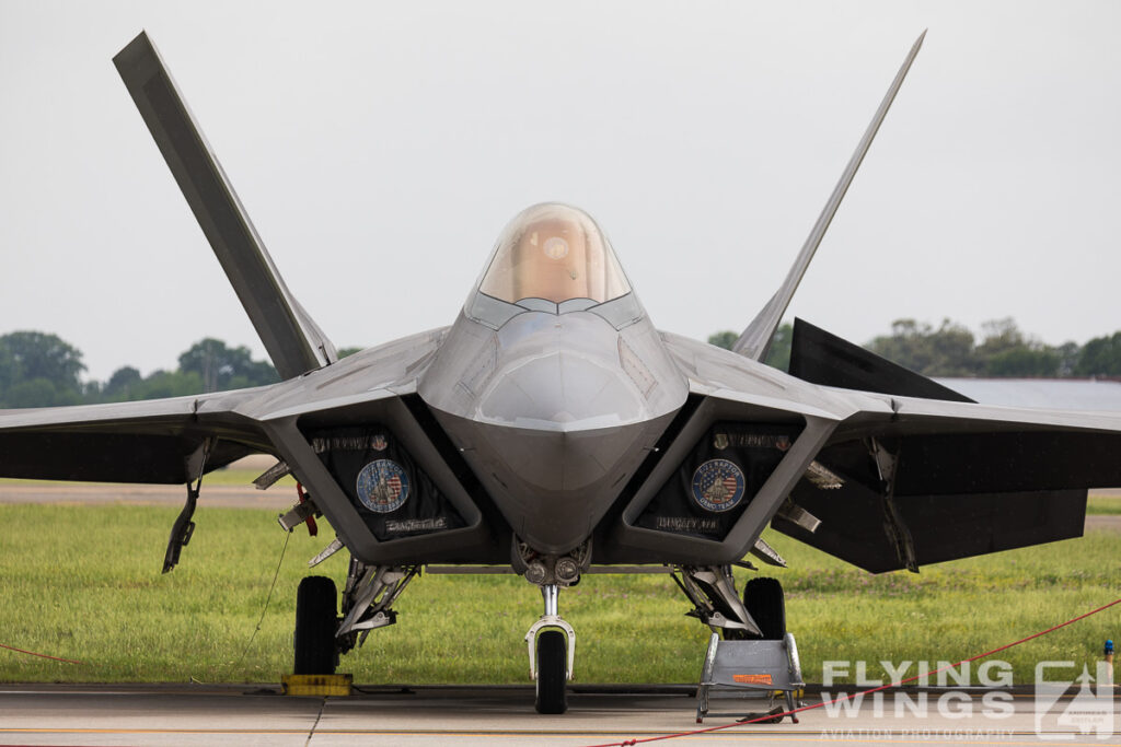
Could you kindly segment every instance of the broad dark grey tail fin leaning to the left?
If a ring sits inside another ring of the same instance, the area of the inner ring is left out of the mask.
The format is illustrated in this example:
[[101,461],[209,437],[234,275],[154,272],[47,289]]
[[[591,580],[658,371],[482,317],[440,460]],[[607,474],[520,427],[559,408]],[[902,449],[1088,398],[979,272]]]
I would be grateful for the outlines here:
[[334,346],[288,291],[147,34],[113,64],[277,372],[291,379],[333,363]]

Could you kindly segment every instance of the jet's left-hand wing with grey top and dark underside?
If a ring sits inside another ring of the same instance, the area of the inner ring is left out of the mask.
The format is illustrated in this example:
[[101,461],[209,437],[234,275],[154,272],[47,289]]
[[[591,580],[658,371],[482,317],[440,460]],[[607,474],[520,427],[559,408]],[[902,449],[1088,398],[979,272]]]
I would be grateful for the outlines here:
[[[183,484],[247,454],[282,456],[295,420],[396,401],[446,329],[411,335],[269,386],[141,402],[0,410],[0,477]],[[345,418],[343,418],[345,419]],[[209,446],[205,465],[202,454]],[[306,443],[306,442],[305,442]]]

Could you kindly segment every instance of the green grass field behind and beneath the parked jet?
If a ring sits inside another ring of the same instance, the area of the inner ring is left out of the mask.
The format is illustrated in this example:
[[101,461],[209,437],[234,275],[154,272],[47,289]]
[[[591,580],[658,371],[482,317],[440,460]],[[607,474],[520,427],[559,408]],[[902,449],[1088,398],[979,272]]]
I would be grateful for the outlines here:
[[[160,575],[177,510],[0,505],[0,644],[76,659],[63,664],[0,650],[2,681],[275,682],[290,671],[296,586],[330,540],[291,535],[275,515],[201,510],[182,564]],[[324,536],[324,534],[326,534]],[[790,562],[790,629],[818,681],[824,660],[957,661],[1115,599],[1121,534],[1094,532],[1038,548],[870,576],[781,535]],[[341,585],[343,555],[316,572]],[[396,605],[399,624],[343,657],[358,682],[527,682],[522,636],[540,614],[517,577],[423,577]],[[577,632],[580,682],[695,681],[708,632],[664,576],[585,577],[562,592]],[[252,641],[250,641],[252,638]],[[1040,660],[1095,661],[1121,638],[1121,605],[1004,652],[1018,682]],[[869,673],[877,676],[877,667]]]

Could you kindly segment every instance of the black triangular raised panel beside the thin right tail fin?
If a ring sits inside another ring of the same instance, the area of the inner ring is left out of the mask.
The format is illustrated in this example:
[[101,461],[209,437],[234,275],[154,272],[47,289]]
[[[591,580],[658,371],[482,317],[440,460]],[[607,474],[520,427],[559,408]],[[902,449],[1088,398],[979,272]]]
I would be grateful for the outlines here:
[[824,386],[927,400],[973,401],[802,319],[794,320],[789,373]]

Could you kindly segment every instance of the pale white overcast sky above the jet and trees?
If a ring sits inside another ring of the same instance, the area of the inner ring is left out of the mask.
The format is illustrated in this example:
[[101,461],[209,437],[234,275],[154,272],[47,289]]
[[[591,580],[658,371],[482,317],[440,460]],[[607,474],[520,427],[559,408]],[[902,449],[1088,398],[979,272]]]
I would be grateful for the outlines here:
[[340,346],[451,324],[521,208],[611,236],[663,329],[742,329],[929,34],[796,314],[856,343],[1121,328],[1118,2],[0,0],[0,333],[89,375],[263,347],[110,58],[159,47]]

